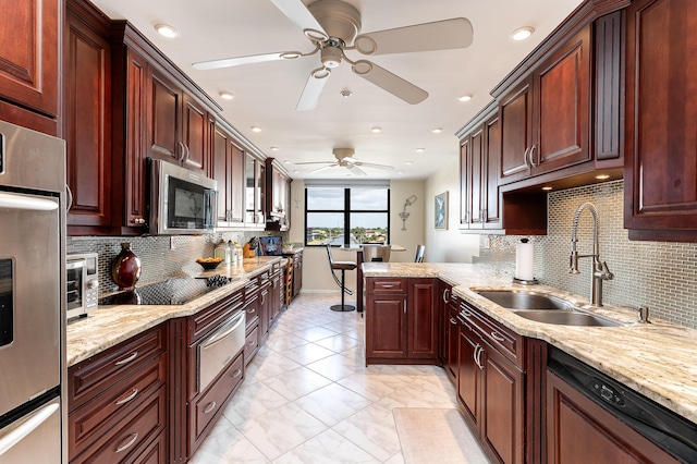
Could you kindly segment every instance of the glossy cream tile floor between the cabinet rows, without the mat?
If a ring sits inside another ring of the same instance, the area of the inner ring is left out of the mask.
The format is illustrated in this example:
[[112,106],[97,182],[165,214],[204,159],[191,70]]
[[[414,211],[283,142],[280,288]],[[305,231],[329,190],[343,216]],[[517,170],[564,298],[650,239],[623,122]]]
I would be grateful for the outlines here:
[[281,313],[191,463],[403,463],[391,410],[457,407],[440,367],[366,367],[363,318],[330,310],[338,298]]

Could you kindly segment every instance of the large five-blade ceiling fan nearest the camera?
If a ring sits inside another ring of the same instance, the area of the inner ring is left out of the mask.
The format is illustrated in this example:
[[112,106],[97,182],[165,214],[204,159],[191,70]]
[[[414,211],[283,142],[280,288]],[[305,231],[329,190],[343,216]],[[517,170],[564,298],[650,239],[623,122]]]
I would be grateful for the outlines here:
[[368,60],[352,60],[345,51],[377,56],[414,51],[450,50],[469,47],[472,23],[464,17],[416,24],[394,29],[360,33],[360,13],[341,0],[317,0],[305,5],[302,0],[271,0],[311,41],[315,49],[253,54],[194,63],[197,70],[213,70],[274,60],[293,60],[319,53],[320,65],[310,72],[296,111],[311,111],[327,85],[331,70],[342,61],[354,73],[411,105],[424,101],[428,93]]

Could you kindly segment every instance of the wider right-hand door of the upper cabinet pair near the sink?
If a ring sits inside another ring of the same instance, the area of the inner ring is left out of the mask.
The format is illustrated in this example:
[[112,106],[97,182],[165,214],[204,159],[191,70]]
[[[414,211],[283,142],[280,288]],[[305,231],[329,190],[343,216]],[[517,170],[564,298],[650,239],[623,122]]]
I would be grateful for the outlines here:
[[590,27],[584,27],[533,74],[534,174],[591,159]]

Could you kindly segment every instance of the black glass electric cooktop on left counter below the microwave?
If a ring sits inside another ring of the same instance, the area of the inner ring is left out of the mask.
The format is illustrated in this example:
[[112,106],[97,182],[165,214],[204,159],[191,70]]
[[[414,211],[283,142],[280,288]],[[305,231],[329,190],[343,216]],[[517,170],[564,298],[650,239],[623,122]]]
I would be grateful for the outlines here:
[[162,282],[136,286],[133,291],[120,292],[99,298],[99,305],[183,305],[232,279],[213,276],[208,279],[174,277]]

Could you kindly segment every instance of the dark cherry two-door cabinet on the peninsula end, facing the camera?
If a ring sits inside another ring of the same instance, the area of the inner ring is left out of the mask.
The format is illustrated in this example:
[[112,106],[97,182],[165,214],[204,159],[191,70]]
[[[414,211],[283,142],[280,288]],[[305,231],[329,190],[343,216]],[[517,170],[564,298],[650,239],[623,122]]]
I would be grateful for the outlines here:
[[366,279],[366,364],[438,363],[438,280]]

